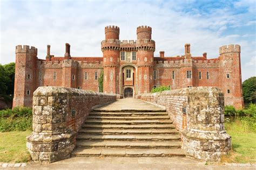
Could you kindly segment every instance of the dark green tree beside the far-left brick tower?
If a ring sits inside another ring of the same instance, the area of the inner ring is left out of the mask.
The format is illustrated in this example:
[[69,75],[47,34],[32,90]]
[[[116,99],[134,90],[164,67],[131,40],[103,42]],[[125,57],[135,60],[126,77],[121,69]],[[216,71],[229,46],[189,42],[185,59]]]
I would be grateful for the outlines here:
[[5,75],[8,77],[9,81],[6,82],[6,94],[14,94],[14,79],[15,79],[15,62],[10,62],[4,65]]

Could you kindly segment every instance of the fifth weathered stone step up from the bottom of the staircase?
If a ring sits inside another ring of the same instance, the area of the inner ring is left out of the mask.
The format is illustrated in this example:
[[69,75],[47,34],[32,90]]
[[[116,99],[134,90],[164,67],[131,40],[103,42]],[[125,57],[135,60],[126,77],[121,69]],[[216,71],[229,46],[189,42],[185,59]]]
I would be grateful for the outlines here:
[[126,124],[84,124],[83,128],[111,128],[111,129],[174,129],[173,124],[139,124],[139,125],[126,125]]

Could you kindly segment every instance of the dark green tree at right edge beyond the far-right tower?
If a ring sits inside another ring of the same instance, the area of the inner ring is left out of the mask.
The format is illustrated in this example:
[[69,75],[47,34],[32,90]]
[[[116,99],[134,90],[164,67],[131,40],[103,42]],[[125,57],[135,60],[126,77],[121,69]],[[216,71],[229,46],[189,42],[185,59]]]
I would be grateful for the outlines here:
[[242,82],[242,93],[245,103],[256,103],[256,77],[251,77]]

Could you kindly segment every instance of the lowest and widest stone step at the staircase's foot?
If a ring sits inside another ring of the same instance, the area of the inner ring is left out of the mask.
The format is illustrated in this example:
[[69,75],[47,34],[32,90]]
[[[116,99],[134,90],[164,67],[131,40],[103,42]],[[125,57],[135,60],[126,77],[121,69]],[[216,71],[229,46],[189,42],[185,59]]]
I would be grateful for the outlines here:
[[83,148],[77,147],[72,152],[76,157],[185,157],[185,152],[171,148]]

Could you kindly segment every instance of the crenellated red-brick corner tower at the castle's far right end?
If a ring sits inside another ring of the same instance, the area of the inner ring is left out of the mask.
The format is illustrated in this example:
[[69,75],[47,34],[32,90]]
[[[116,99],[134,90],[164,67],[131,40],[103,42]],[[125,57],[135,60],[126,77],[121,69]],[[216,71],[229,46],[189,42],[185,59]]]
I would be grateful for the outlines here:
[[244,107],[242,97],[242,77],[240,62],[240,45],[225,45],[219,48],[220,89],[225,96],[225,105],[234,105],[235,108]]

